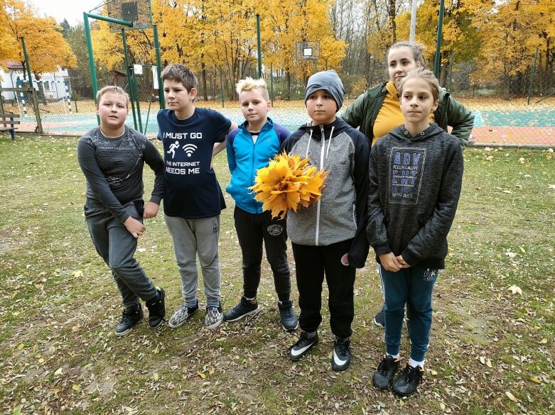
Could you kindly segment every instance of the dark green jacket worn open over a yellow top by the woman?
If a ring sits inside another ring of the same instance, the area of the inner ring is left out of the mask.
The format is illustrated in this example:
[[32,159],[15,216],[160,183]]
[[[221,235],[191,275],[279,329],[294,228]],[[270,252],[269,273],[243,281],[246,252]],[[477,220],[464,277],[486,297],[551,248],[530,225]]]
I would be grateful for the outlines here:
[[[384,82],[377,85],[377,87],[367,89],[341,114],[341,118],[347,124],[355,128],[360,127],[360,131],[367,136],[370,143],[372,143],[374,137],[372,126],[374,126],[379,109],[387,95],[385,85]],[[433,111],[433,116],[438,126],[443,128],[444,131],[447,131],[447,126],[453,127],[451,134],[458,138],[461,148],[464,149],[468,145],[468,139],[474,126],[474,116],[463,104],[454,99],[446,89],[441,89],[438,108]]]

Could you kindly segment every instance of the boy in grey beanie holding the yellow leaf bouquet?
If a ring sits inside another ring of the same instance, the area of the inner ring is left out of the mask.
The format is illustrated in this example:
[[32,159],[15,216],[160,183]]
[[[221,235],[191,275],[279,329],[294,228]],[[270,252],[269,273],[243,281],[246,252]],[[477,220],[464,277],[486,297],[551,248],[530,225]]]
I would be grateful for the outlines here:
[[365,236],[370,142],[337,118],[344,94],[343,82],[335,71],[313,74],[305,92],[311,122],[289,135],[281,146],[289,155],[308,157],[311,165],[328,171],[321,199],[287,214],[302,329],[289,349],[289,358],[300,360],[318,343],[325,277],[334,335],[331,367],[336,371],[350,364],[356,268],[364,267],[370,248]]

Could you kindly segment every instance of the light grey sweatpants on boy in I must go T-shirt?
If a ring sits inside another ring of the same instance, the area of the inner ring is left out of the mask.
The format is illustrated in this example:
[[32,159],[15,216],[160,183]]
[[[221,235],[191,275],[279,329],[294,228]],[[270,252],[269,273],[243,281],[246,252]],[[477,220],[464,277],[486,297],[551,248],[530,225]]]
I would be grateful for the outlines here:
[[173,239],[183,299],[185,302],[192,302],[197,298],[198,255],[206,299],[220,301],[220,255],[217,247],[220,239],[220,215],[200,219],[168,215],[164,217]]

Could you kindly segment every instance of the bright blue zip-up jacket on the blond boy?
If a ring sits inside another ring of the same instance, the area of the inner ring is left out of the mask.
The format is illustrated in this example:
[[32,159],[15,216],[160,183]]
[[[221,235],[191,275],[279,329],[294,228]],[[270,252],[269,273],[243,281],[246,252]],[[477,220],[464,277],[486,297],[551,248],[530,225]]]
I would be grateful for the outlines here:
[[231,182],[225,190],[239,209],[249,214],[262,214],[262,202],[254,200],[254,193],[249,187],[254,186],[257,170],[269,165],[274,155],[279,153],[289,131],[268,118],[254,143],[247,124],[244,121],[227,134],[227,165],[230,167]]

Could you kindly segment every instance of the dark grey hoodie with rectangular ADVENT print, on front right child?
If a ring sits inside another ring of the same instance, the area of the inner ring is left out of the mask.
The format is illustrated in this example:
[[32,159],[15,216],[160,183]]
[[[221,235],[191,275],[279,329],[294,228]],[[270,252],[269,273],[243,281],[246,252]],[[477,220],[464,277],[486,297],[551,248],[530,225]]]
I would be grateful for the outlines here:
[[369,170],[367,236],[377,262],[392,252],[411,266],[445,268],[463,180],[458,139],[436,123],[414,137],[399,126],[372,147]]

